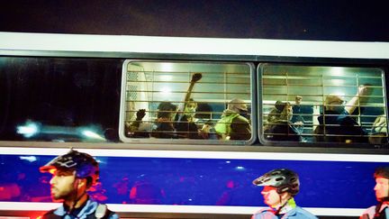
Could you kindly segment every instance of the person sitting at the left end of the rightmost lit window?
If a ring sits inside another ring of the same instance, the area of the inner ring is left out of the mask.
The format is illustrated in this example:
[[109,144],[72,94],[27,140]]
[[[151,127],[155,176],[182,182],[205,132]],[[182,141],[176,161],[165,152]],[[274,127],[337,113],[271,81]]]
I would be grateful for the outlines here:
[[[275,108],[267,116],[264,126],[265,139],[268,141],[301,141],[300,132],[291,123],[293,108],[289,102],[276,101]],[[297,125],[303,125],[297,122]]]

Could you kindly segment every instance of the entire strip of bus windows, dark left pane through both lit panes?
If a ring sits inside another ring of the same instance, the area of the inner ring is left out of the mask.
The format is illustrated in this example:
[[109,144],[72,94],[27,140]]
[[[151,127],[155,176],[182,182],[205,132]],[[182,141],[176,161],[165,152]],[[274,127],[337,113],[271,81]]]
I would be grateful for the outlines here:
[[384,68],[0,61],[2,140],[387,144]]

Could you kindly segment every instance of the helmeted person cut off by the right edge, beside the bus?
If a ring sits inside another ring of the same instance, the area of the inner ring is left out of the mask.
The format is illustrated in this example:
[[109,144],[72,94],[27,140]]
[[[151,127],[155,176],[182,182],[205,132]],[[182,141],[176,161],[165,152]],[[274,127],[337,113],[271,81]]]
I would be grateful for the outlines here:
[[377,205],[371,206],[359,217],[360,219],[389,218],[389,166],[375,169],[375,197]]

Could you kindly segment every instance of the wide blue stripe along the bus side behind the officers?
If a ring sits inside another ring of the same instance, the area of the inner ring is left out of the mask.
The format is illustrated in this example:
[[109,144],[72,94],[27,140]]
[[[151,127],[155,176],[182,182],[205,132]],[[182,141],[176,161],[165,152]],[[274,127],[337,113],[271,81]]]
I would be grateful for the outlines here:
[[[52,158],[0,155],[0,201],[50,202],[50,174],[40,173],[39,167]],[[101,184],[90,192],[91,196],[108,204],[156,205],[264,205],[261,187],[251,181],[270,169],[286,168],[300,175],[298,205],[365,208],[375,204],[375,168],[389,165],[357,161],[97,159]]]

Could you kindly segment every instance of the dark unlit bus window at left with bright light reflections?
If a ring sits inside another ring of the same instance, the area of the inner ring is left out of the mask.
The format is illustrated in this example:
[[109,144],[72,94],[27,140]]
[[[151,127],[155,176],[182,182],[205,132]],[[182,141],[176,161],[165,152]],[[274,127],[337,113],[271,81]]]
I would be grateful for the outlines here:
[[0,57],[0,140],[118,141],[122,60]]

